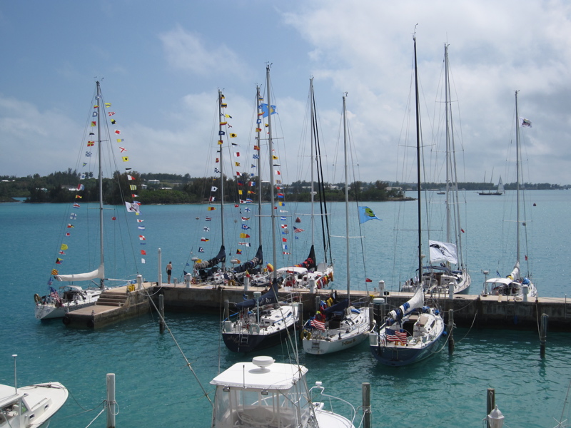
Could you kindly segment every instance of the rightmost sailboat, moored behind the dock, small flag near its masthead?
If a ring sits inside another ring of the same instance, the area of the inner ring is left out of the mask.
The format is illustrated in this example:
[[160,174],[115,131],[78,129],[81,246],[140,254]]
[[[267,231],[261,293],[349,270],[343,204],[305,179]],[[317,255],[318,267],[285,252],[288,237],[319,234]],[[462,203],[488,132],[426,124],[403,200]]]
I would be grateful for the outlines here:
[[[486,280],[485,287],[490,290],[492,295],[513,296],[516,300],[524,300],[527,297],[537,297],[537,288],[531,281],[529,270],[527,274],[522,275],[520,270],[520,228],[526,227],[527,222],[520,219],[520,128],[530,127],[531,122],[518,116],[517,111],[517,93],[515,91],[515,170],[516,170],[516,246],[515,246],[515,265],[507,277],[495,277]],[[525,255],[527,261],[527,255]]]

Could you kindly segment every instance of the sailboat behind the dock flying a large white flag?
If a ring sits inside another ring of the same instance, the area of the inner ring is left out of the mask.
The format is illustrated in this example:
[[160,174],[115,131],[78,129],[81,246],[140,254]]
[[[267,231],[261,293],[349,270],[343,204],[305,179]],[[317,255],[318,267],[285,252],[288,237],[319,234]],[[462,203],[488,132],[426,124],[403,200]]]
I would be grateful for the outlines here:
[[[450,76],[448,66],[448,45],[444,45],[445,60],[445,143],[446,143],[446,187],[445,187],[445,241],[429,240],[430,264],[423,267],[422,286],[426,292],[454,294],[467,292],[472,282],[465,266],[460,226],[460,198],[458,195],[458,174],[454,133],[452,132],[452,103],[450,101]],[[420,200],[420,199],[419,199]],[[415,291],[418,282],[406,282],[401,291]]]

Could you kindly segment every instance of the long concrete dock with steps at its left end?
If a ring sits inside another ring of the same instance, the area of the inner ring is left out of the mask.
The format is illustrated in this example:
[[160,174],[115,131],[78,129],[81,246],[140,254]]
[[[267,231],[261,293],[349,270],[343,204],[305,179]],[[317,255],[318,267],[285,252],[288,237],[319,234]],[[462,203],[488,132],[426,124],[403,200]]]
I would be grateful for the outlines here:
[[[135,289],[137,288],[137,289]],[[177,312],[211,312],[220,313],[224,302],[242,302],[253,297],[254,291],[263,292],[263,287],[217,286],[212,285],[186,285],[162,284],[157,282],[143,282],[141,285],[116,287],[103,292],[94,306],[84,307],[69,312],[64,317],[64,324],[69,327],[98,328],[119,322],[127,318],[143,315],[154,310],[151,298],[156,301],[158,295],[163,295],[164,307],[167,311]],[[316,300],[327,300],[333,290],[320,289],[310,292],[301,288],[281,288],[280,297],[285,300],[292,298],[303,307],[303,318],[307,319],[315,313]],[[384,291],[352,291],[351,300],[355,302],[369,302],[383,297],[384,308],[375,307],[375,315],[381,310],[391,310],[403,305],[412,297],[410,292]],[[339,297],[345,295],[344,290],[338,290]],[[527,302],[514,300],[513,297],[497,295],[426,295],[425,301],[432,299],[444,312],[454,311],[454,322],[458,327],[497,328],[507,330],[538,331],[540,317],[545,314],[549,319],[550,331],[571,331],[571,302],[565,297],[537,297]],[[569,313],[569,315],[567,315]]]

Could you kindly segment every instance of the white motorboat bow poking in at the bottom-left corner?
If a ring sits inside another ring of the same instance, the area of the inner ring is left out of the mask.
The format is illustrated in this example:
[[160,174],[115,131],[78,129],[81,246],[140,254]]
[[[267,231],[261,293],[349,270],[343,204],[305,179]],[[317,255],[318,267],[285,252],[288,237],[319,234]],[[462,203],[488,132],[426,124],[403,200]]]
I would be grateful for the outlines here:
[[13,387],[0,384],[0,428],[35,428],[61,409],[68,391],[59,382]]

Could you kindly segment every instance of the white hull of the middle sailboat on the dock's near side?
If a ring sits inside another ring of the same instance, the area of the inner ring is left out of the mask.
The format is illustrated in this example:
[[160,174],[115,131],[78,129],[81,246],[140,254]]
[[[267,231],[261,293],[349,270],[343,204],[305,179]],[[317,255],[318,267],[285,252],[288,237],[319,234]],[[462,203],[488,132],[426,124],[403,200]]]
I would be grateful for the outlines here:
[[305,330],[303,335],[303,351],[313,355],[324,355],[355,347],[367,339],[370,332],[368,308],[360,313],[351,312],[348,318],[340,322],[338,328],[325,331]]

